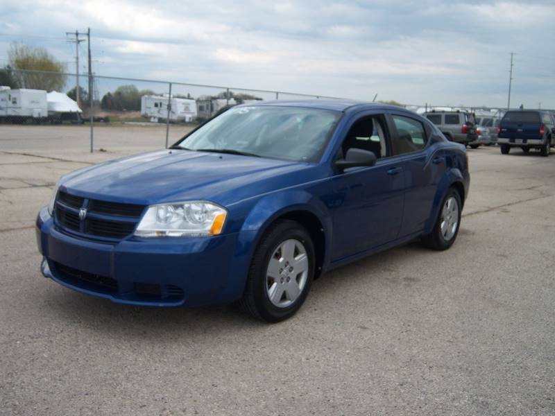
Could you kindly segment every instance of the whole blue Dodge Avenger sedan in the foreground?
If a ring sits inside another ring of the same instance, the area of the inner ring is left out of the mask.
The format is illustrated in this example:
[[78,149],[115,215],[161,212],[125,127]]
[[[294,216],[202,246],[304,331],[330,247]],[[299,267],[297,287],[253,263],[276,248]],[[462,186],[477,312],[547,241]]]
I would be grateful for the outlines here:
[[293,315],[311,282],[416,238],[454,243],[466,150],[378,103],[239,105],[167,150],[63,176],[37,217],[42,274],[149,306]]

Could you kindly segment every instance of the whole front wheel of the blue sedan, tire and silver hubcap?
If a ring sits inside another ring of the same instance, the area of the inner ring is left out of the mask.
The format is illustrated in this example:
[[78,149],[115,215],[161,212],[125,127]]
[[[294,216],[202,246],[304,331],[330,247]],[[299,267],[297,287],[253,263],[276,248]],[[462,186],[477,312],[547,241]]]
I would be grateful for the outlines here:
[[290,318],[307,298],[315,264],[314,243],[307,230],[296,221],[275,223],[255,250],[239,303],[266,322]]

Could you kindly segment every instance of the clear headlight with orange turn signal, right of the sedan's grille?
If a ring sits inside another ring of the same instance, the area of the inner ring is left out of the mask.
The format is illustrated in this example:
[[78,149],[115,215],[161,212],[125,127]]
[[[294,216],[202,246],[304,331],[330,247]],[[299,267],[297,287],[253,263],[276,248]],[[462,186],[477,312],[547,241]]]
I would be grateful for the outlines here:
[[228,211],[204,201],[152,205],[137,226],[139,237],[215,236]]

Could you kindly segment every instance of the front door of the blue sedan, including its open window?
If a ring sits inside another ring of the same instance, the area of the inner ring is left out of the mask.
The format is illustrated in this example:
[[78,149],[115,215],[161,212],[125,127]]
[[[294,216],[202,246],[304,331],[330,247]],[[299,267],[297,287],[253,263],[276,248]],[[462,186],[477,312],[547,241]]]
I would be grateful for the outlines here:
[[403,214],[404,175],[391,155],[383,115],[363,116],[352,123],[340,153],[349,148],[370,150],[375,166],[351,168],[332,179],[332,261],[343,259],[397,239]]

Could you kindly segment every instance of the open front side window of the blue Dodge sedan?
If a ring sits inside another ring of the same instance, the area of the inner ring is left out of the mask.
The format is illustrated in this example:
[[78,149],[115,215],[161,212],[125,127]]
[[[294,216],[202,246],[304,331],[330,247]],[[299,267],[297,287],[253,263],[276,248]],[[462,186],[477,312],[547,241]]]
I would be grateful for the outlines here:
[[350,148],[370,150],[378,159],[391,155],[391,152],[388,152],[385,131],[380,116],[363,117],[355,121],[341,146],[343,155],[346,155]]

